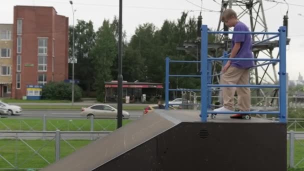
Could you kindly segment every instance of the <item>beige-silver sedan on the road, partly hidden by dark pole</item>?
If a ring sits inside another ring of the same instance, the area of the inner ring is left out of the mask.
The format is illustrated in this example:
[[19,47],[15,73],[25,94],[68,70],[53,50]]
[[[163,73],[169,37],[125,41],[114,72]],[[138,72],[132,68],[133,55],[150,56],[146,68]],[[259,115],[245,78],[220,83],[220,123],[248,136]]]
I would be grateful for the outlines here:
[[[102,116],[102,117],[116,117],[117,109],[108,104],[94,104],[88,107],[82,107],[80,116]],[[129,118],[130,115],[127,111],[122,110],[123,118]]]

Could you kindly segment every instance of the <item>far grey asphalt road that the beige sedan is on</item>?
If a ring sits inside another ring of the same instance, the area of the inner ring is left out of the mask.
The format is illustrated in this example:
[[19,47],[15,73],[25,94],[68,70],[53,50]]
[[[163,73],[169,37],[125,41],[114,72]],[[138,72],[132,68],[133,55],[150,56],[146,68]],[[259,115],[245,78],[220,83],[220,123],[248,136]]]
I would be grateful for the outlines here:
[[[128,110],[127,110],[128,111]],[[141,110],[129,110],[130,116],[142,115]],[[79,116],[80,110],[27,110],[23,109],[20,116]]]

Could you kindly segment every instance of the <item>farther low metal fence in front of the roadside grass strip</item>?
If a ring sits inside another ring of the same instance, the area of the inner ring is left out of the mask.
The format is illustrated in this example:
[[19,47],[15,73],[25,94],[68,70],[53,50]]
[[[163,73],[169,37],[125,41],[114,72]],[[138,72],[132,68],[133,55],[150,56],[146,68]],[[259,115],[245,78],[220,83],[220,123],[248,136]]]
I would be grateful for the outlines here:
[[[81,116],[1,116],[0,130],[64,130],[64,131],[107,131],[117,127],[116,117]],[[128,122],[138,117],[124,119]]]

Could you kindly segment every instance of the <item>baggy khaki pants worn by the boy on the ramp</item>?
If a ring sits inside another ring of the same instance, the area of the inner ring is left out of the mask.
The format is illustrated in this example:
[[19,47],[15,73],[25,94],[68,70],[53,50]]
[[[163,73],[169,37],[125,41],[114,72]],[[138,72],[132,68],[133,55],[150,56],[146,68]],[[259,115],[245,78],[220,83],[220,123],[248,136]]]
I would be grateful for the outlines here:
[[[240,69],[234,66],[228,67],[221,76],[221,84],[248,84],[249,69]],[[248,87],[222,87],[224,106],[234,110],[233,96],[237,93],[237,104],[240,111],[250,111],[250,88]]]

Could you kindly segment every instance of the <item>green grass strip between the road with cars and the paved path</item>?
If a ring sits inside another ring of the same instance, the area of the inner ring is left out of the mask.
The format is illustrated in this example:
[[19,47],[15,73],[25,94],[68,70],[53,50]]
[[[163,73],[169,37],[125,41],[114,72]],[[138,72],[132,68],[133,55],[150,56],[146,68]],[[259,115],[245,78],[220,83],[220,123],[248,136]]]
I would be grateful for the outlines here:
[[[132,120],[122,120],[127,124]],[[113,131],[116,129],[116,119],[94,119],[94,131]],[[42,119],[0,119],[0,130],[42,130]],[[53,119],[46,120],[46,130],[90,131],[90,119]]]

